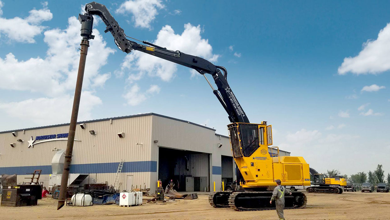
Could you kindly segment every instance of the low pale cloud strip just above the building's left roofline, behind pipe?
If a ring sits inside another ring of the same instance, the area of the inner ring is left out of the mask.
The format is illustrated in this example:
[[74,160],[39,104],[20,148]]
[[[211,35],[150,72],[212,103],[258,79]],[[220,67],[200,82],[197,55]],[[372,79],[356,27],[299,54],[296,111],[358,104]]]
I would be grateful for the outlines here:
[[[82,92],[78,120],[90,120],[91,110],[102,104],[99,97],[89,91]],[[28,122],[35,126],[69,123],[73,96],[62,95],[55,98],[27,99],[20,102],[0,103],[0,111],[8,116]]]

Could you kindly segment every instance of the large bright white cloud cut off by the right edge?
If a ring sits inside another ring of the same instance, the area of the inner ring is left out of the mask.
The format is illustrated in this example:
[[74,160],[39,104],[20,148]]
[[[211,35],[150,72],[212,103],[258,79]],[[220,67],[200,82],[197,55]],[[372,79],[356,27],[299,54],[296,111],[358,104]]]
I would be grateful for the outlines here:
[[390,70],[390,23],[380,30],[376,40],[367,40],[355,57],[346,57],[338,69],[340,75],[376,74]]

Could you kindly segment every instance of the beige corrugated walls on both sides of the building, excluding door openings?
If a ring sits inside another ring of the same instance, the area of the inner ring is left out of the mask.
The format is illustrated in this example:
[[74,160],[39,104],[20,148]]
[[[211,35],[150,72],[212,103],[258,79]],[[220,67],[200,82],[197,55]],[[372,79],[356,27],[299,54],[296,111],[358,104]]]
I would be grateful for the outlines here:
[[[91,135],[89,130],[94,130],[96,135]],[[23,182],[28,177],[23,174],[42,169],[41,180],[46,185],[49,180],[47,174],[51,173],[51,159],[55,154],[52,150],[65,149],[66,141],[39,143],[34,148],[27,148],[27,141],[31,137],[35,139],[36,136],[68,131],[69,125],[60,125],[19,130],[17,137],[12,136],[11,132],[0,133],[0,172],[18,172],[18,181]],[[119,138],[119,132],[124,132],[125,137]],[[17,139],[24,142],[17,142]],[[151,187],[151,192],[154,191],[158,178],[159,146],[210,154],[210,158],[202,154],[191,156],[193,165],[196,166],[192,175],[211,174],[210,187],[213,187],[215,181],[216,190],[220,190],[221,155],[232,156],[228,137],[215,135],[215,130],[211,128],[156,114],[90,121],[85,129],[76,127],[76,139],[80,141],[74,143],[71,171],[90,173],[98,183],[107,181],[111,185],[119,161],[124,159],[119,180],[122,183],[121,189],[126,187],[126,175],[133,175],[133,185],[146,185]],[[15,148],[10,146],[11,143],[16,143]],[[218,148],[218,143],[222,144],[221,148]],[[284,154],[280,153],[281,156]]]

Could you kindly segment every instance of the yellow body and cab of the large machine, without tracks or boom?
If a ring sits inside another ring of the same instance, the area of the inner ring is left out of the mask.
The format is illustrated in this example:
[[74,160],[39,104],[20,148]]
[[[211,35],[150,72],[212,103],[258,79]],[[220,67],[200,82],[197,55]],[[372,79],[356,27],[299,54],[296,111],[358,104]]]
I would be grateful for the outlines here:
[[[245,180],[240,183],[243,188],[276,186],[278,179],[282,185],[310,186],[309,164],[303,157],[280,157],[278,147],[268,147],[271,125],[232,123],[228,128],[234,160]],[[273,149],[278,153],[271,157]]]

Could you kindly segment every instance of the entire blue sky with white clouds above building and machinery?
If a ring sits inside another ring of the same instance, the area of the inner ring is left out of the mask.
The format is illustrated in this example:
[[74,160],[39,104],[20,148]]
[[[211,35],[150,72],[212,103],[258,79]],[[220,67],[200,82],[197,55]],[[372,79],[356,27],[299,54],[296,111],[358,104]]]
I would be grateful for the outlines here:
[[[1,1],[0,130],[69,121],[86,3]],[[127,35],[224,66],[250,121],[318,171],[390,171],[390,2],[100,3]],[[154,112],[227,134],[203,77],[126,55],[95,21],[79,120]]]

